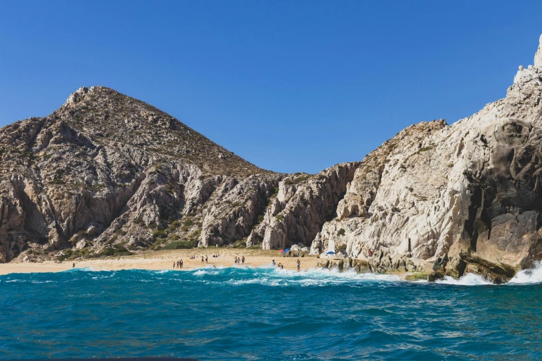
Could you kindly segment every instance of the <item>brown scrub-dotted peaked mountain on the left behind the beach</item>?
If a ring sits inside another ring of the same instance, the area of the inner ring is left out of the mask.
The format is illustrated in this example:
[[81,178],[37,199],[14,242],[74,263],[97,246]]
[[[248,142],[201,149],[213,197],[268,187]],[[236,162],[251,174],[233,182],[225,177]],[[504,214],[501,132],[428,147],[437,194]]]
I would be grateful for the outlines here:
[[[96,86],[0,129],[0,261],[247,237],[282,174]],[[116,248],[115,248],[116,247]]]

